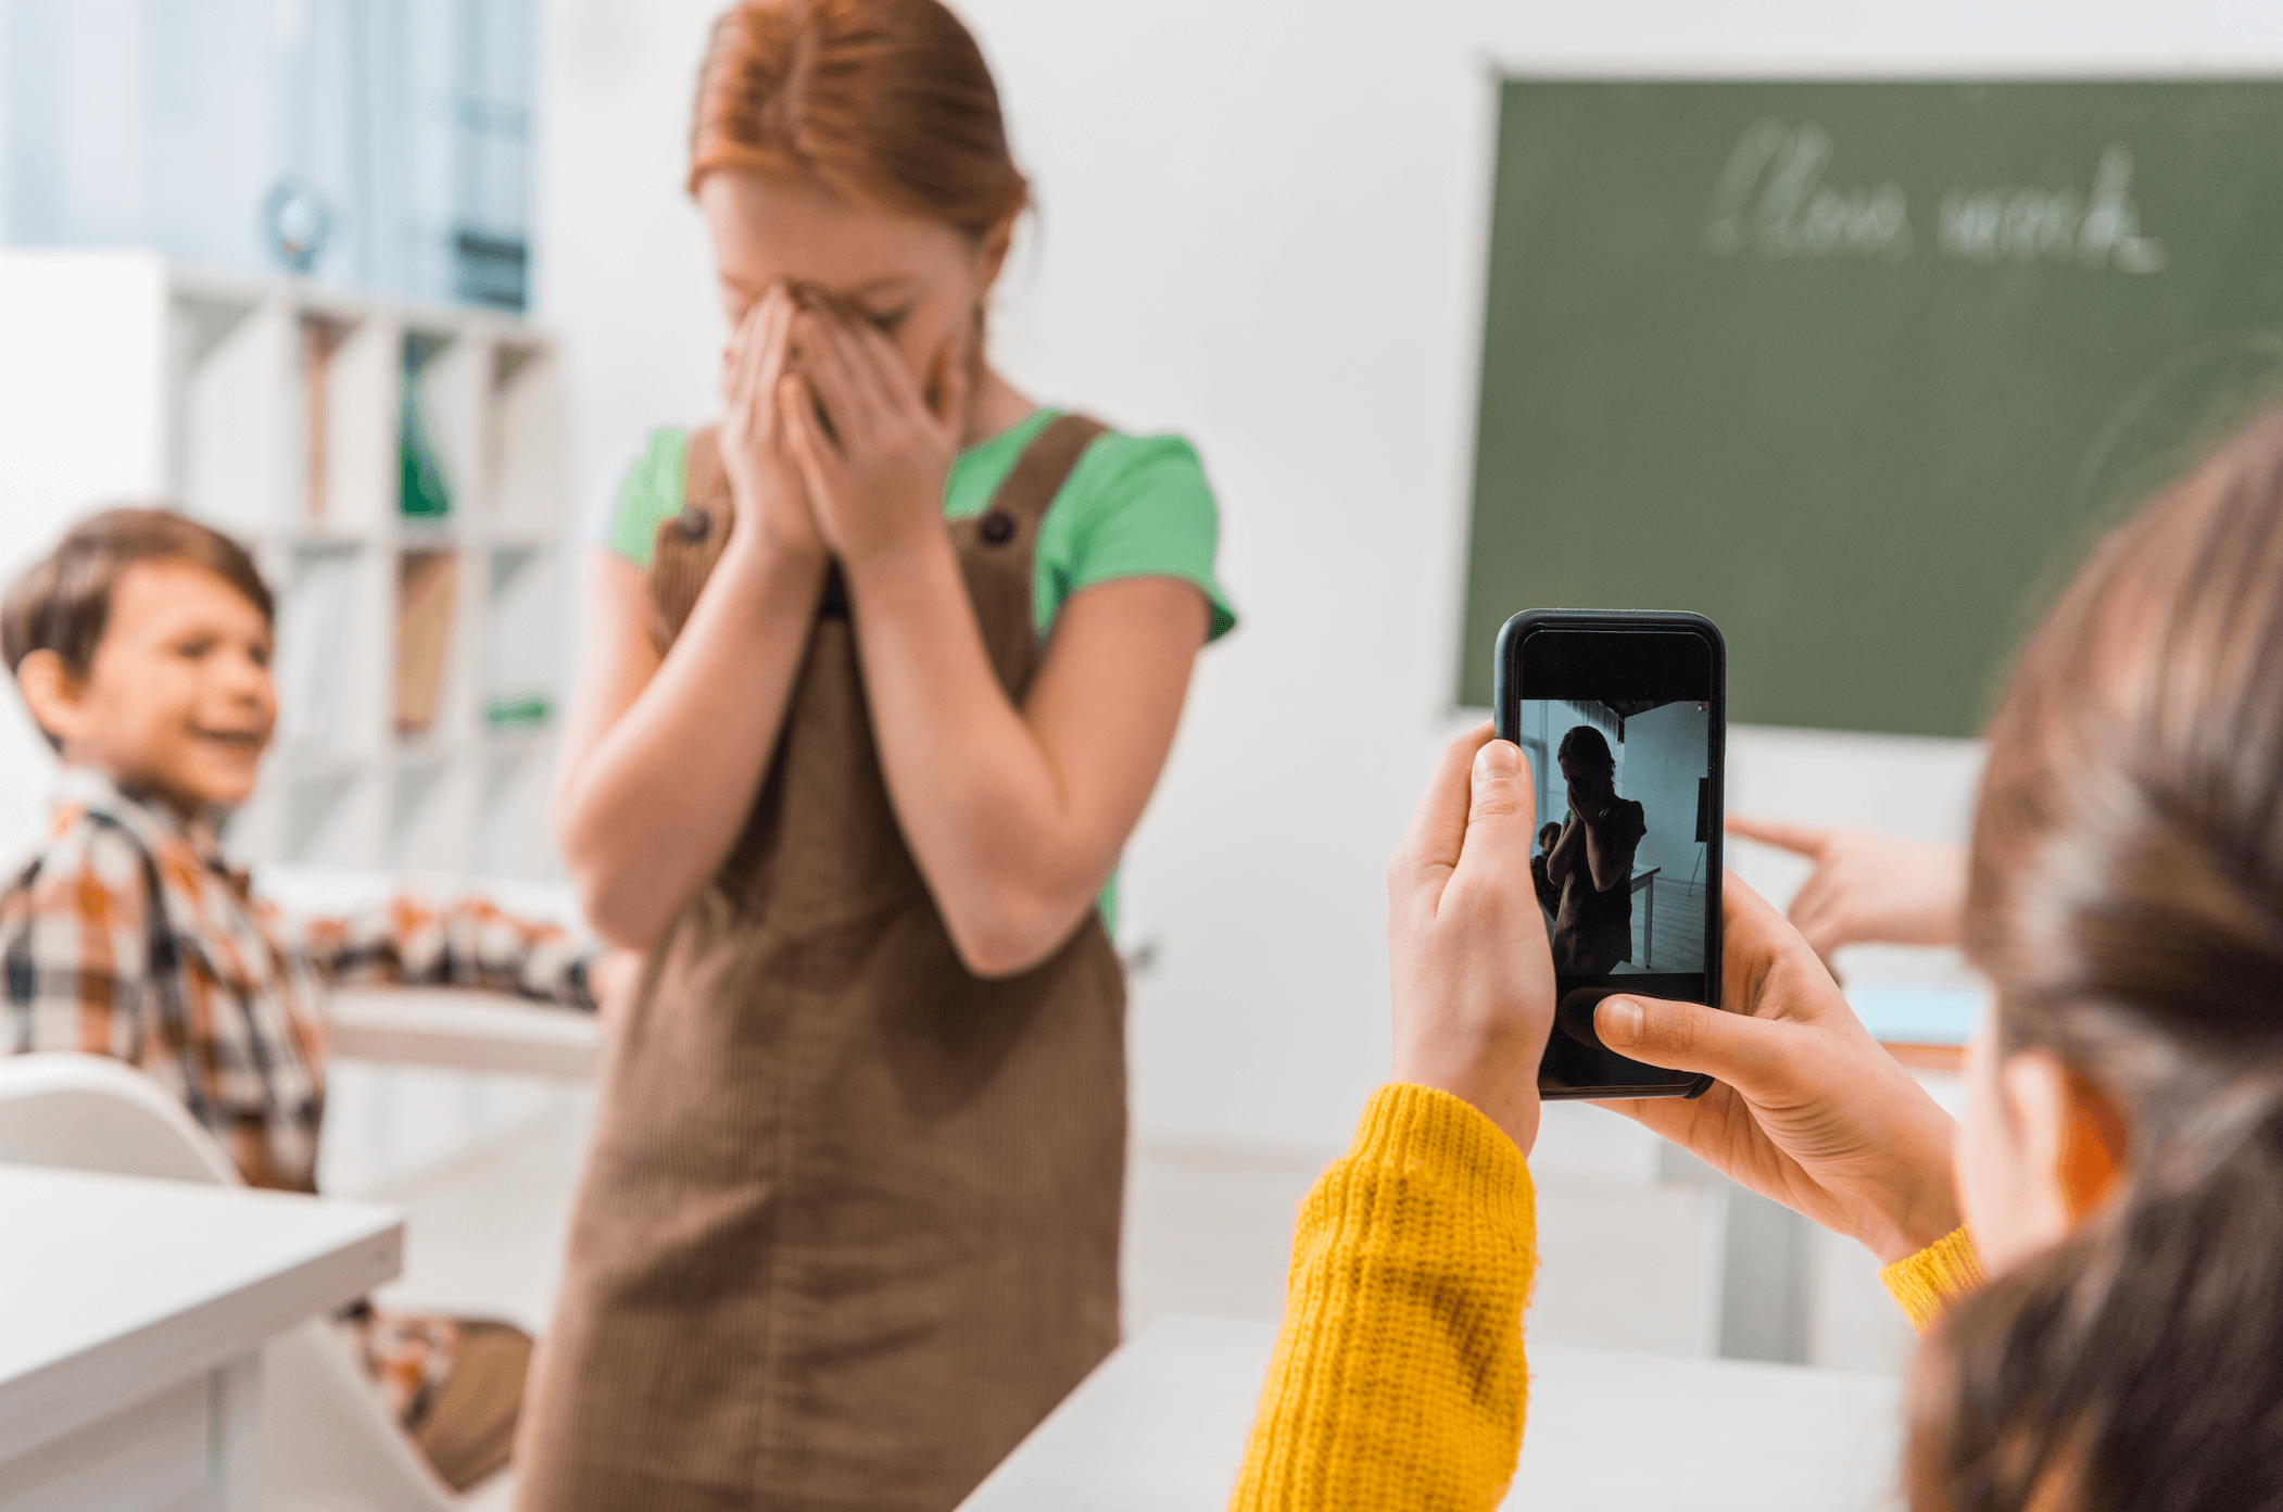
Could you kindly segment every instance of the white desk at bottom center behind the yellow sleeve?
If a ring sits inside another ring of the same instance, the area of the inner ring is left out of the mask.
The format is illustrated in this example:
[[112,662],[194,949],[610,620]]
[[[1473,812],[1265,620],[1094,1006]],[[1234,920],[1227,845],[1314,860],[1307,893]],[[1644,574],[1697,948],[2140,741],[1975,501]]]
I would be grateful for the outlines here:
[[[961,1512],[1217,1512],[1276,1329],[1160,1318],[1071,1393]],[[1899,1384],[1801,1366],[1530,1350],[1514,1512],[1883,1512]]]

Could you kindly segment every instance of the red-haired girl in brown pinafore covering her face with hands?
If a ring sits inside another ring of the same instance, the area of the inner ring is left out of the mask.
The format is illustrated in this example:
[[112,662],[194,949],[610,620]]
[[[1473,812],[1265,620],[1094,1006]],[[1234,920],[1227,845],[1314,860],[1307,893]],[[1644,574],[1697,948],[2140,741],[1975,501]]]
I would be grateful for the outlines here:
[[1114,1345],[1112,870],[1231,626],[1187,443],[991,365],[1027,185],[936,0],[715,27],[731,338],[594,553],[557,834],[646,950],[525,1505],[947,1512]]

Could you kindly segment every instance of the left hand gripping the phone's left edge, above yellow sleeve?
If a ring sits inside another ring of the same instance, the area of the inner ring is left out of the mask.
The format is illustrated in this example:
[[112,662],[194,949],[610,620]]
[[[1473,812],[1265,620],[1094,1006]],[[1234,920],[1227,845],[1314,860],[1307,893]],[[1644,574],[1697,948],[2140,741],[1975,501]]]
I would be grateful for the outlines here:
[[1443,747],[1388,863],[1395,1080],[1441,1087],[1530,1153],[1555,962],[1530,884],[1530,763],[1482,724]]

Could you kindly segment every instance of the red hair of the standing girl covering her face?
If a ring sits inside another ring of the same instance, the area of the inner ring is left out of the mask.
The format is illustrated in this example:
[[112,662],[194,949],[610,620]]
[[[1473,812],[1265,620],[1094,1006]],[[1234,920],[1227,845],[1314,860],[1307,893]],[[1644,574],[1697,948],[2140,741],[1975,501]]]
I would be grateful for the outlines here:
[[810,178],[982,240],[1030,203],[975,37],[936,0],[749,0],[699,64],[689,192]]

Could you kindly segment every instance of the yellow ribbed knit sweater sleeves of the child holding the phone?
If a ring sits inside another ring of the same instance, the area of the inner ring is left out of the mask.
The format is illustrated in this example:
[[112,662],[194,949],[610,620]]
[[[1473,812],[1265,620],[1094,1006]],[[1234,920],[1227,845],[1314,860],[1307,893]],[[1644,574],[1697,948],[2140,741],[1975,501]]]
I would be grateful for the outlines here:
[[[1301,1204],[1231,1512],[1498,1507],[1523,1448],[1534,1236],[1530,1165],[1498,1124],[1431,1087],[1372,1094]],[[1982,1270],[1961,1229],[1883,1279],[1925,1327]]]

